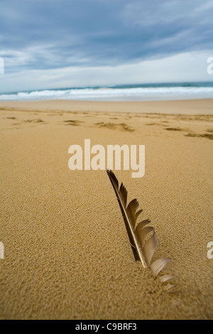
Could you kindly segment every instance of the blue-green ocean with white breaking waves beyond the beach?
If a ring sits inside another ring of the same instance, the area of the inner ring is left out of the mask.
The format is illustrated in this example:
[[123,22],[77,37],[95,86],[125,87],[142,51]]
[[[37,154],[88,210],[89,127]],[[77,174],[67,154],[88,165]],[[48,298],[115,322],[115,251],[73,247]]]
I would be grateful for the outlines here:
[[213,82],[70,87],[0,94],[0,101],[70,99],[88,101],[158,101],[213,98]]

